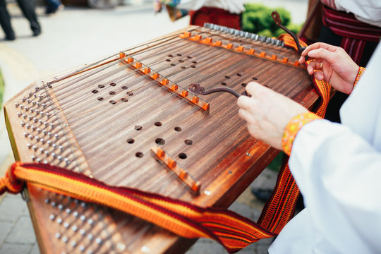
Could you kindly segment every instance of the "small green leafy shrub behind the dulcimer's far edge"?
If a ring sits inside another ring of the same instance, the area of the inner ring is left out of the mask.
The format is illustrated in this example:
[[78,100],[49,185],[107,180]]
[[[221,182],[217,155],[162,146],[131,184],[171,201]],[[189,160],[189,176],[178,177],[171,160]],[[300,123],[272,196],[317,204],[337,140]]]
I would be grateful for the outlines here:
[[280,29],[272,19],[272,11],[277,11],[281,17],[282,25],[296,34],[301,25],[291,23],[291,14],[285,8],[269,8],[262,4],[246,4],[242,13],[242,30],[253,32],[267,37],[278,37],[284,30]]

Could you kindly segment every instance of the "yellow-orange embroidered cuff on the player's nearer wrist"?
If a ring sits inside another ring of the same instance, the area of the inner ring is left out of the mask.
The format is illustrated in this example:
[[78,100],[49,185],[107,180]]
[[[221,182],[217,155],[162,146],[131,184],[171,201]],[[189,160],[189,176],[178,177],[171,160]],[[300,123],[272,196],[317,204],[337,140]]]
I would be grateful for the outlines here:
[[289,123],[286,128],[284,128],[283,138],[282,138],[282,149],[286,155],[291,155],[292,143],[294,143],[296,134],[298,131],[310,121],[322,119],[320,116],[313,114],[312,112],[306,112],[298,114]]

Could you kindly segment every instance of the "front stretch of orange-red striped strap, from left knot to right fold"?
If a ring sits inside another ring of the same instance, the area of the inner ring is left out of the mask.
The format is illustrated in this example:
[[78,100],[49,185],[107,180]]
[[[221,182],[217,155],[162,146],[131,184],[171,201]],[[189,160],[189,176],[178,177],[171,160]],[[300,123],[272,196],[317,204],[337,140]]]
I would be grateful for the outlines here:
[[18,193],[25,182],[132,214],[186,238],[212,238],[234,253],[250,243],[274,236],[255,222],[229,210],[198,207],[132,188],[108,186],[49,164],[14,163],[0,179],[0,191]]

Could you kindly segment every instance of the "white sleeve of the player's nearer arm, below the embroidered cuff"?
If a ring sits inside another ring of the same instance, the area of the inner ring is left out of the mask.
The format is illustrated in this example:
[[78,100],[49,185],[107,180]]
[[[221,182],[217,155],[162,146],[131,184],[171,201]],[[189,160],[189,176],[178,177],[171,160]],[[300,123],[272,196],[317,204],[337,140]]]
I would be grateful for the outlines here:
[[346,126],[316,120],[298,132],[289,166],[327,245],[381,253],[380,151]]

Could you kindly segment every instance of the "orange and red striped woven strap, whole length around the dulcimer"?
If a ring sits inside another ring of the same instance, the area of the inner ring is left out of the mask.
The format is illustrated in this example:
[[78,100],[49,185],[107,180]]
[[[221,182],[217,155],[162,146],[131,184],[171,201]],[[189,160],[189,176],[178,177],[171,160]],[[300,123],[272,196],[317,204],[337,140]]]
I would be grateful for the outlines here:
[[[329,97],[329,86],[317,80],[315,86],[319,94],[324,95],[317,108],[317,114],[322,116]],[[133,188],[108,186],[83,174],[49,164],[16,162],[8,169],[6,176],[0,179],[0,194],[6,191],[18,193],[23,190],[25,183],[132,214],[179,236],[214,239],[229,253],[279,234],[294,214],[299,195],[289,168],[284,167],[279,173],[272,198],[255,223],[229,210],[198,207]]]

